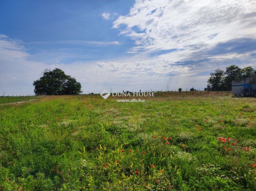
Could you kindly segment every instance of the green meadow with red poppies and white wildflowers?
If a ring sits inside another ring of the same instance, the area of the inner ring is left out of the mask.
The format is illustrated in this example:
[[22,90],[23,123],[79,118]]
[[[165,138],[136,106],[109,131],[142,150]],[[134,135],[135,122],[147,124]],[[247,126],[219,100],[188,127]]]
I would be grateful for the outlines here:
[[46,96],[0,131],[4,191],[256,190],[255,98]]

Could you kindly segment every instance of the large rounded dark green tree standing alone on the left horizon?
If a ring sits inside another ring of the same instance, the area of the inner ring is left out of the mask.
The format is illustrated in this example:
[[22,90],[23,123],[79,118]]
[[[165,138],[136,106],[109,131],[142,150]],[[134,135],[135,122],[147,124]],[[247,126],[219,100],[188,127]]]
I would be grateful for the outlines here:
[[44,70],[43,76],[34,81],[33,86],[35,94],[75,95],[82,93],[81,84],[59,68]]

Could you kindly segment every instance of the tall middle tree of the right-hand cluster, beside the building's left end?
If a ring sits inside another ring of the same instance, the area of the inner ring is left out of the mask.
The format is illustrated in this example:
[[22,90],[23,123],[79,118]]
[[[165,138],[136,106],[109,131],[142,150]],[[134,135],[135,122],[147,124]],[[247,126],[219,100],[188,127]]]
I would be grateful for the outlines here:
[[226,72],[224,73],[226,75],[224,82],[225,82],[225,88],[226,90],[232,89],[232,80],[237,80],[242,78],[242,69],[238,66],[231,65],[226,68]]

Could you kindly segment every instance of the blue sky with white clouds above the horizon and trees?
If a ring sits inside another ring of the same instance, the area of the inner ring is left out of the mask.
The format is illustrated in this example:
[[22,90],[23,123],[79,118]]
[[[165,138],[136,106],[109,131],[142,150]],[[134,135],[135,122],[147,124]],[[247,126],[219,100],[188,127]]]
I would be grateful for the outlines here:
[[84,94],[203,89],[256,69],[256,0],[0,0],[0,94],[60,68]]

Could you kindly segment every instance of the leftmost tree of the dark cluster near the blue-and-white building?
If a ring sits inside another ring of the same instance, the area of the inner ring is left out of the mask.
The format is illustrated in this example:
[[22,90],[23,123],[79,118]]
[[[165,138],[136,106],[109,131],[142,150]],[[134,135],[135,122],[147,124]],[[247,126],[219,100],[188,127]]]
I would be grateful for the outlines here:
[[207,89],[211,91],[224,90],[224,71],[217,69],[214,73],[211,73],[209,80],[207,81]]

